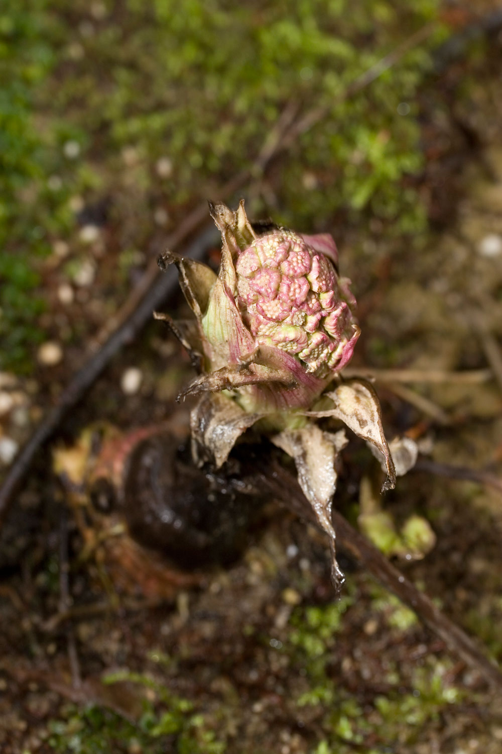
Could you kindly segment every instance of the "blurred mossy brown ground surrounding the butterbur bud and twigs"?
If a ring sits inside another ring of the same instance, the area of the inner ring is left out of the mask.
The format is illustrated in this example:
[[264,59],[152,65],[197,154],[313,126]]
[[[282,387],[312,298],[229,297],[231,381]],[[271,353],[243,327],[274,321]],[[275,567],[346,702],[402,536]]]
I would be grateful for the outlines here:
[[[484,367],[469,312],[481,311],[500,338],[500,257],[483,256],[479,244],[502,234],[502,54],[488,36],[434,69],[431,51],[468,18],[467,6],[460,17],[448,11],[429,0],[315,0],[288,12],[271,2],[7,0],[0,329],[2,369],[20,375],[15,390],[29,396],[28,423],[12,429],[19,439],[166,234],[253,164],[291,102],[326,115],[254,176],[247,206],[333,233],[360,303],[355,363]],[[428,23],[431,35],[381,78],[340,97]],[[36,363],[45,339],[63,348],[52,368]],[[120,375],[132,363],[144,381],[124,398]],[[152,325],[62,435],[96,418],[123,427],[167,418],[189,373]],[[411,428],[437,461],[500,466],[494,382],[416,389],[450,424],[382,387],[391,434]],[[354,520],[373,461],[357,444],[346,460],[339,505]],[[39,459],[2,532],[5,754],[502,750],[500,701],[476,673],[354,563],[343,563],[347,584],[333,602],[324,539],[275,508],[241,561],[156,607],[105,590],[96,565],[78,559],[70,520],[71,599],[89,614],[47,627],[60,606],[64,505],[49,465]],[[398,522],[412,513],[431,522],[434,550],[400,567],[500,661],[499,501],[477,485],[414,474],[385,508]],[[109,609],[94,615],[103,603]]]

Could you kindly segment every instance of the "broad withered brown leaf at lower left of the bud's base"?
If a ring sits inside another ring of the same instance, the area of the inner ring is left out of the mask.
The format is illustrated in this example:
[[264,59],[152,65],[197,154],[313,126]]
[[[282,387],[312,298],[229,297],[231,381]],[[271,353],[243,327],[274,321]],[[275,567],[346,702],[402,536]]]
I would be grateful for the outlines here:
[[190,413],[194,461],[214,461],[219,468],[236,441],[261,414],[248,414],[224,395],[206,393]]

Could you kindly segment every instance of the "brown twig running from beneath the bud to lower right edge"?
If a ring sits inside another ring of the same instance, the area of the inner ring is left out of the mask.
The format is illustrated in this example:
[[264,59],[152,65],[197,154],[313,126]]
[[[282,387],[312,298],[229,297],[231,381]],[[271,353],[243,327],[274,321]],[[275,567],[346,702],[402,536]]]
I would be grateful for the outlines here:
[[[281,464],[273,460],[264,461],[260,483],[278,501],[318,527],[315,513],[300,486]],[[336,510],[333,511],[333,526],[340,547],[354,556],[380,584],[408,605],[440,637],[452,654],[476,670],[489,685],[502,691],[502,673],[499,668],[482,654],[476,642],[461,627],[453,623],[427,595],[418,591],[406,576]]]

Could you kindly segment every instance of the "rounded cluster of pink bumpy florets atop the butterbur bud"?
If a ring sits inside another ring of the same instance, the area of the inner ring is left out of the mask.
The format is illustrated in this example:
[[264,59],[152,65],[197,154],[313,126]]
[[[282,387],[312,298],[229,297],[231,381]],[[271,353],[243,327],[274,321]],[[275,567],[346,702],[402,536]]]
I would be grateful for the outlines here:
[[283,230],[239,251],[235,265],[237,304],[257,345],[281,348],[321,377],[348,363],[360,333],[350,281],[335,265],[329,235]]

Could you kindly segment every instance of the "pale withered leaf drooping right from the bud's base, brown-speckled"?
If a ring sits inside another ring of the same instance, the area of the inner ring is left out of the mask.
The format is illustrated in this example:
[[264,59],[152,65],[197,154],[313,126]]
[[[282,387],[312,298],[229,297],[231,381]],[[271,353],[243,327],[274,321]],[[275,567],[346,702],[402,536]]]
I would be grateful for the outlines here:
[[379,450],[385,460],[387,472],[382,492],[385,489],[394,489],[396,470],[382,427],[382,409],[373,387],[364,379],[350,379],[325,395],[333,401],[333,407],[326,411],[308,412],[307,415],[340,419],[357,434],[357,437],[361,437]]

